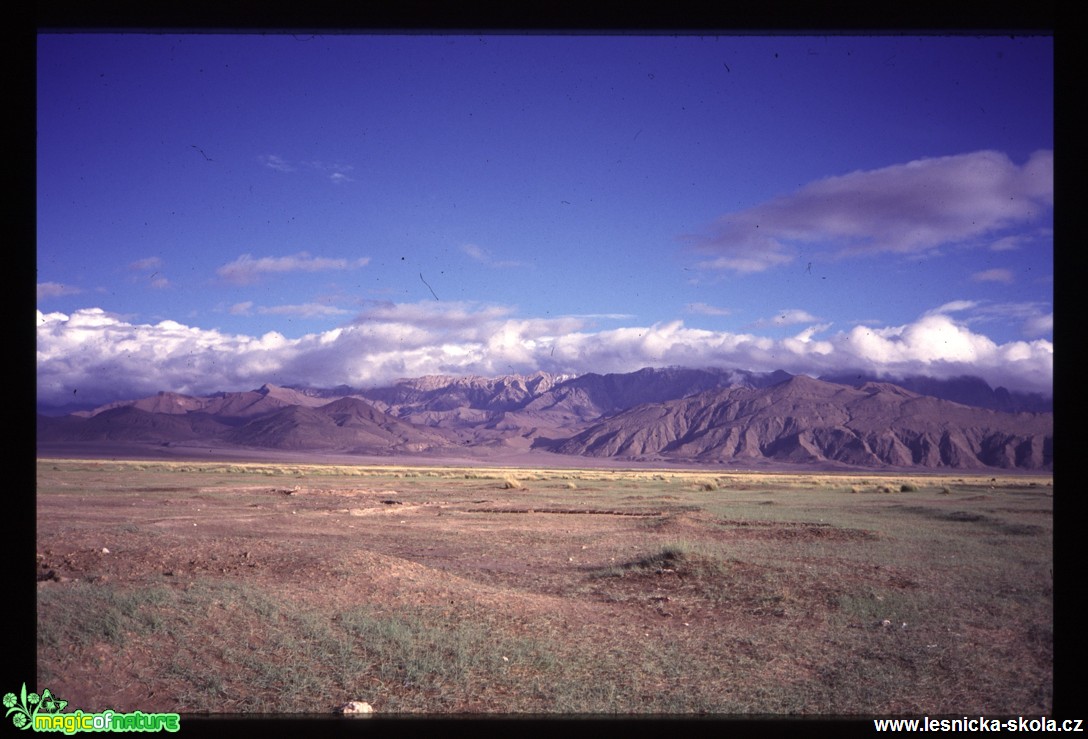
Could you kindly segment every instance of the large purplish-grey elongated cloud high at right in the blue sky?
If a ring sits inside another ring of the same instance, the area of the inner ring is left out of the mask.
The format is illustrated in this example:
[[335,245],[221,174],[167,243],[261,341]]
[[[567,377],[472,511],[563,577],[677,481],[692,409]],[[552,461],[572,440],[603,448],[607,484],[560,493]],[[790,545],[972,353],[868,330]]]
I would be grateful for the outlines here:
[[[1053,206],[1053,152],[1022,165],[999,151],[919,159],[811,183],[685,236],[700,267],[762,272],[820,251],[827,258],[926,254],[1041,220]],[[994,241],[991,248],[1012,248]]]

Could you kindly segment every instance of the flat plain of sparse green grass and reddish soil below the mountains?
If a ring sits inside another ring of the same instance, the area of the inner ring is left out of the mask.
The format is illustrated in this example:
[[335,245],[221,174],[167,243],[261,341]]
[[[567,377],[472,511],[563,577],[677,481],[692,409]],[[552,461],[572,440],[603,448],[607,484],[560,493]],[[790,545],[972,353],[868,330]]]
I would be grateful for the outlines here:
[[1050,477],[40,459],[83,711],[1049,715]]

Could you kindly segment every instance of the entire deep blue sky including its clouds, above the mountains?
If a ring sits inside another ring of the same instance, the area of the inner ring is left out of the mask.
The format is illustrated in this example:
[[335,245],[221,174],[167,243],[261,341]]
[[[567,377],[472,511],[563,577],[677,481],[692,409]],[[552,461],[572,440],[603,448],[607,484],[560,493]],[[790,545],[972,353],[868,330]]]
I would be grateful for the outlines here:
[[42,404],[669,365],[1051,389],[1049,37],[37,59]]

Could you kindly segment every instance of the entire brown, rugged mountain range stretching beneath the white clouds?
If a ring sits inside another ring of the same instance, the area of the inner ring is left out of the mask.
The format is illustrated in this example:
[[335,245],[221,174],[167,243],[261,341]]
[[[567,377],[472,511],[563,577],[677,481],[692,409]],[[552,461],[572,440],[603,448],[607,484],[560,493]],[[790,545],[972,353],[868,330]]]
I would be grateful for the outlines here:
[[[925,392],[922,392],[925,391]],[[616,374],[428,375],[372,389],[160,392],[39,412],[38,453],[290,453],[744,468],[1053,467],[1044,398],[975,378],[664,368]]]

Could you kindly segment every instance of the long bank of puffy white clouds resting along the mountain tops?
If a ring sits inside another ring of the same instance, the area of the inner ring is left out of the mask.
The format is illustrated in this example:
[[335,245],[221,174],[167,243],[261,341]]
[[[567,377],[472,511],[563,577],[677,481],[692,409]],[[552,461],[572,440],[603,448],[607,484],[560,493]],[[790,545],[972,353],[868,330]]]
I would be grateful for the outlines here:
[[372,386],[423,374],[628,372],[647,366],[975,374],[994,386],[1051,392],[1050,341],[997,344],[953,316],[969,312],[968,301],[942,308],[899,327],[828,333],[830,324],[814,323],[786,338],[693,329],[682,321],[592,330],[577,317],[519,318],[508,307],[472,303],[374,303],[349,323],[298,338],[226,334],[175,321],[135,323],[99,308],[38,311],[38,397],[61,405],[77,390],[81,399],[106,403],[161,390],[207,394],[265,382]]

